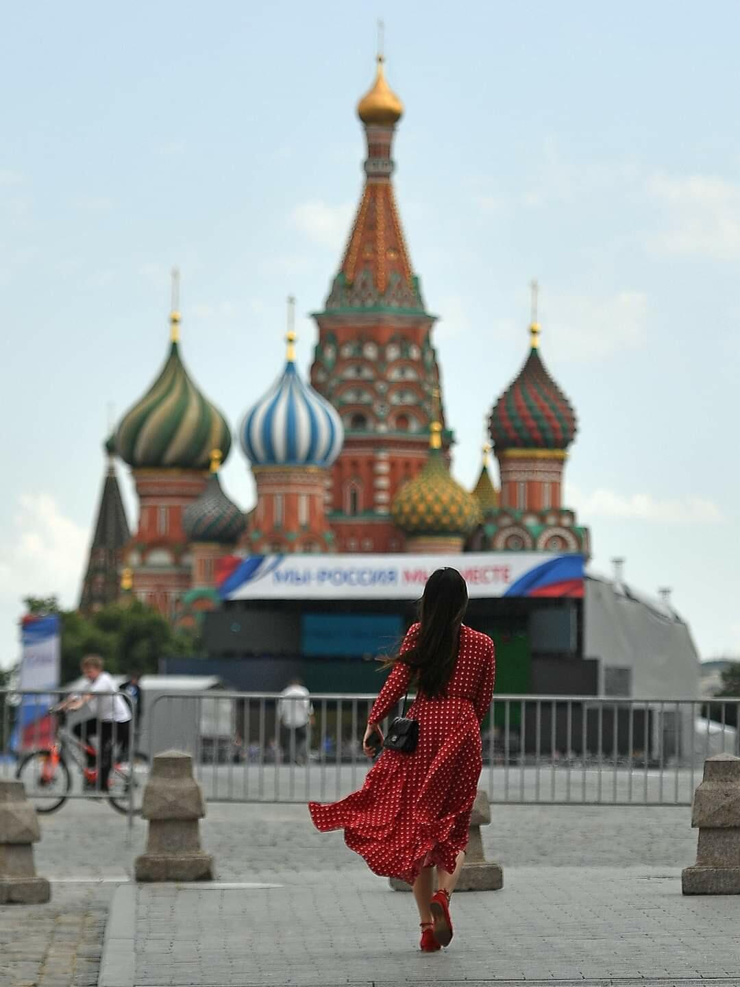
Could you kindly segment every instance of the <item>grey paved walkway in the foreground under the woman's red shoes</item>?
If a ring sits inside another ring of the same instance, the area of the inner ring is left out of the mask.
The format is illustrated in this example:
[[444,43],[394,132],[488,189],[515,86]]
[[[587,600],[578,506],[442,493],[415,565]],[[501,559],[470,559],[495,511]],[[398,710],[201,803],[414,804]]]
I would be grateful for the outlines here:
[[656,869],[512,869],[503,891],[455,896],[455,939],[434,954],[418,950],[410,896],[368,872],[141,886],[128,898],[130,938],[117,948],[135,959],[105,987],[740,977],[740,900],[684,898],[678,872]]

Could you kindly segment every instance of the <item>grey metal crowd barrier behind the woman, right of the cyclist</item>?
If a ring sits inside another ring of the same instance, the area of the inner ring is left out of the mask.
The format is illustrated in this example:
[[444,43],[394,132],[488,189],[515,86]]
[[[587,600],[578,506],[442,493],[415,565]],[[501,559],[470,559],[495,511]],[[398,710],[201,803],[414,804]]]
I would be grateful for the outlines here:
[[[330,801],[370,767],[361,742],[374,700],[317,694],[309,711],[277,693],[163,694],[142,746],[191,753],[212,801]],[[481,788],[509,804],[689,805],[704,758],[740,753],[740,699],[710,705],[713,720],[705,700],[495,696]]]

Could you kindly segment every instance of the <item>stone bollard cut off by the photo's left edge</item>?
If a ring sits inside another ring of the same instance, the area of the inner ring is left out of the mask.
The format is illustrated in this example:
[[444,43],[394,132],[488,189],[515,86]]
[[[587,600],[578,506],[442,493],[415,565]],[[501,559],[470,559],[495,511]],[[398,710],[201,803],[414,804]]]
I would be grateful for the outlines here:
[[36,809],[23,782],[0,782],[0,905],[39,905],[51,897],[37,877],[34,843],[41,838]]

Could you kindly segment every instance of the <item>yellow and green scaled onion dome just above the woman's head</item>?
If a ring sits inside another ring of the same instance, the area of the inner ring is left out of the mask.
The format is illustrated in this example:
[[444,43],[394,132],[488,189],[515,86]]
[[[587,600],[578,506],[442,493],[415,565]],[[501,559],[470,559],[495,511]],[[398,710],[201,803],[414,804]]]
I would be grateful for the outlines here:
[[394,497],[391,516],[407,535],[466,535],[481,523],[481,507],[456,483],[438,449]]

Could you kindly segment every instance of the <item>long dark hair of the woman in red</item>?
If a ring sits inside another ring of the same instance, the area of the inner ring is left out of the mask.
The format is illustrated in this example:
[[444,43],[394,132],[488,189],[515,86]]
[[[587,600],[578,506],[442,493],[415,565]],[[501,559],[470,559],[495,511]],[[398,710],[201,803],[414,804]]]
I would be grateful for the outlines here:
[[437,569],[429,576],[419,604],[419,629],[413,645],[396,657],[413,671],[411,681],[424,695],[444,695],[460,644],[460,627],[468,609],[468,586],[457,569]]

